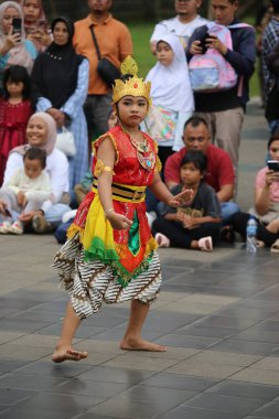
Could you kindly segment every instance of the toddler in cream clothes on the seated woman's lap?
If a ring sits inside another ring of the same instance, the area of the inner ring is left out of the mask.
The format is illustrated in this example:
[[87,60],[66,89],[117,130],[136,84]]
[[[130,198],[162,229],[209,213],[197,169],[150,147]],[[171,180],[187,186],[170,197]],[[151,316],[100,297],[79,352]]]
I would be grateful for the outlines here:
[[[4,187],[0,190],[0,234],[22,234],[21,215],[41,208],[44,201],[51,197],[51,182],[43,171],[46,152],[30,148],[23,157],[24,168],[18,169]],[[13,214],[17,221],[12,224]]]

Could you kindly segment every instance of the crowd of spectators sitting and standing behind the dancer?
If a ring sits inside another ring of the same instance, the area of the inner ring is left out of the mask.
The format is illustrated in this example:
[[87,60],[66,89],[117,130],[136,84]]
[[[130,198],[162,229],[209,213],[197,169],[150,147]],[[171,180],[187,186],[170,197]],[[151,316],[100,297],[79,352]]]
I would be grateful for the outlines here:
[[[111,6],[89,0],[89,14],[74,23],[66,17],[49,22],[42,0],[0,4],[0,234],[54,233],[64,243],[94,187],[92,143],[121,126],[108,77],[120,77],[120,64],[132,55],[130,32]],[[234,232],[245,240],[253,214],[259,243],[276,251],[278,174],[262,169],[255,203],[244,213],[237,165],[257,53],[268,153],[279,160],[279,0],[259,19],[260,40],[238,21],[237,0],[211,0],[212,21],[198,14],[201,6],[174,0],[176,15],[159,22],[150,39],[157,58],[146,77],[152,104],[139,129],[158,146],[170,194],[191,189],[192,200],[171,207],[149,185],[147,219],[160,247],[212,251],[218,240],[232,241]]]

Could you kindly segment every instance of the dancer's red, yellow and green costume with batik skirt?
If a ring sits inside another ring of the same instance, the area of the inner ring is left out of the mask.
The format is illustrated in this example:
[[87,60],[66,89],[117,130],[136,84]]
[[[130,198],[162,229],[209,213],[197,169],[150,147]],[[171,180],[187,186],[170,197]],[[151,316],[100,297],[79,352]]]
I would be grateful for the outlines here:
[[146,133],[142,136],[144,152],[139,152],[120,126],[101,136],[94,146],[96,157],[105,138],[114,143],[112,203],[117,213],[132,221],[130,229],[115,230],[106,219],[95,170],[93,191],[79,206],[67,241],[55,255],[54,268],[81,319],[97,312],[103,301],[137,299],[149,303],[159,293],[161,268],[146,216],[144,190],[160,170],[160,161],[154,141]]

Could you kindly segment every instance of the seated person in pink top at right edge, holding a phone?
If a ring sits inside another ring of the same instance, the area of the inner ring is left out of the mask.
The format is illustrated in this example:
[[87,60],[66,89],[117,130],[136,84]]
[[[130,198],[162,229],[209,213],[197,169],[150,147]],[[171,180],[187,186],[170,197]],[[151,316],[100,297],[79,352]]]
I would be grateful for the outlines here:
[[[268,142],[270,159],[279,161],[279,131]],[[232,216],[233,229],[246,237],[246,226],[253,214],[258,223],[257,238],[272,251],[279,253],[279,172],[261,169],[256,176],[255,205],[249,213],[236,213]]]

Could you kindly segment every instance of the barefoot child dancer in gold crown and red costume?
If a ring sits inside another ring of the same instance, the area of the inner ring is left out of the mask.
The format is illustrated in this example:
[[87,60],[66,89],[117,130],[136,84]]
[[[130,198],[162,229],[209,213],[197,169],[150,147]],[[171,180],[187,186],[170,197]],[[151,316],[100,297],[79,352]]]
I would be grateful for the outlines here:
[[96,313],[103,301],[131,300],[122,350],[165,351],[141,337],[149,304],[161,284],[144,192],[150,186],[160,200],[180,205],[190,198],[191,191],[173,196],[162,183],[155,143],[139,130],[150,104],[150,84],[137,77],[137,65],[130,57],[122,63],[121,72],[126,76],[117,79],[112,89],[119,125],[94,143],[93,191],[79,206],[68,240],[55,256],[54,268],[71,297],[53,354],[56,363],[87,357],[87,352],[72,348],[72,340],[81,320]]

